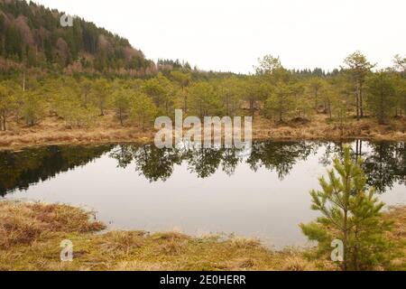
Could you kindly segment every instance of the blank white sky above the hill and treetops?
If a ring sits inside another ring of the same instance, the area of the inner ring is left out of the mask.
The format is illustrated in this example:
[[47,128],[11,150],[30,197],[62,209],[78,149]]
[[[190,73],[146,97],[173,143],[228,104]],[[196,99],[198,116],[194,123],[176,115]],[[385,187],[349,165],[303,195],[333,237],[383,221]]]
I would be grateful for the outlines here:
[[406,53],[404,0],[34,0],[118,33],[156,61],[251,72],[264,54],[332,70],[360,50],[380,67]]

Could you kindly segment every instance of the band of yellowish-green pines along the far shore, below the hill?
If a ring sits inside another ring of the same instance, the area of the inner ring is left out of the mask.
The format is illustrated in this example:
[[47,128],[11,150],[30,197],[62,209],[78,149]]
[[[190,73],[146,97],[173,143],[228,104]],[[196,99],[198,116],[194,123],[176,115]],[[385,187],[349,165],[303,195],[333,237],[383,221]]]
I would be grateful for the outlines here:
[[114,112],[122,126],[147,129],[155,117],[171,117],[177,108],[200,118],[261,115],[277,124],[311,121],[316,114],[342,129],[350,117],[374,117],[385,124],[405,116],[405,63],[396,56],[392,68],[373,71],[356,51],[337,74],[323,77],[302,77],[272,56],[260,60],[251,76],[206,77],[210,74],[184,68],[150,79],[21,73],[0,82],[0,127],[34,126],[52,116],[67,126],[91,126]]

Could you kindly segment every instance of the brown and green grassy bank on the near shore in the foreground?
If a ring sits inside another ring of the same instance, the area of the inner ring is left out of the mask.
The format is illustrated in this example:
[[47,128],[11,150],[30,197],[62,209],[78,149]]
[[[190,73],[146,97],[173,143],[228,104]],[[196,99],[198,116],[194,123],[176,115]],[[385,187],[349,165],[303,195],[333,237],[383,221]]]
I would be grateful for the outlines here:
[[[406,209],[392,210],[392,238],[406,238]],[[0,202],[0,270],[336,270],[309,261],[305,251],[273,251],[248,238],[191,238],[143,231],[97,233],[92,214],[57,204]],[[73,243],[72,262],[60,262],[60,242]],[[399,260],[401,263],[402,260]]]

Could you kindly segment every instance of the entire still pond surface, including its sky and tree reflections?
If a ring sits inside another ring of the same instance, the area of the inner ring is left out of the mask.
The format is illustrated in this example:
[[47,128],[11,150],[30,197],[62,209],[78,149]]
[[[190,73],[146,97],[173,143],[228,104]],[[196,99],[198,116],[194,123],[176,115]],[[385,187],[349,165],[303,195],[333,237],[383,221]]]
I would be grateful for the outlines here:
[[[405,143],[355,141],[368,185],[406,203]],[[110,228],[235,233],[276,247],[304,245],[317,216],[309,190],[341,154],[338,143],[255,143],[185,152],[153,145],[47,146],[0,152],[0,195],[97,210]]]

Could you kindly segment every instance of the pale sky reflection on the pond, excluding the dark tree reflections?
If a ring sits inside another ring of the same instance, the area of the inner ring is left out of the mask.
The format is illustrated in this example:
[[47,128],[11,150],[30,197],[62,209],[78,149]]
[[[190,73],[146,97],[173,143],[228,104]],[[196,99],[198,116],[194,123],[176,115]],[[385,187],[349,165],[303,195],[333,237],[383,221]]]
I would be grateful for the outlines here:
[[[364,144],[363,151],[368,149]],[[319,163],[324,152],[321,146],[306,161],[298,160],[282,181],[277,172],[263,167],[254,172],[245,162],[231,176],[217,169],[201,179],[183,161],[166,182],[149,182],[135,172],[134,163],[117,168],[117,161],[104,154],[6,198],[84,205],[111,228],[225,232],[276,247],[303,245],[298,225],[317,216],[309,210],[309,190],[317,189],[318,177],[326,173]],[[406,203],[405,186],[395,182],[381,198],[391,205]]]

